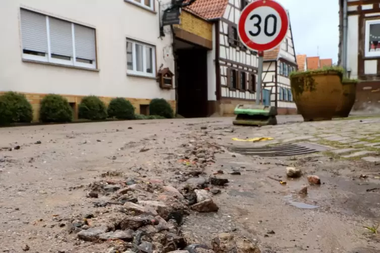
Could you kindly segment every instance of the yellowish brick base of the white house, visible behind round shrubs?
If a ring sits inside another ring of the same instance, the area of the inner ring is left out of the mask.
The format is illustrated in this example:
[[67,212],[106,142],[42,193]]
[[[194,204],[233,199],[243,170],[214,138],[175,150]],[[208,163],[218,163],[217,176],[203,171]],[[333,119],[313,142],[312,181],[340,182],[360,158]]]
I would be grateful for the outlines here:
[[[0,91],[0,95],[3,93],[4,92]],[[21,93],[23,93],[23,92],[21,92]],[[38,121],[40,102],[41,102],[42,98],[44,96],[46,96],[47,94],[39,94],[39,93],[23,93],[23,94],[26,96],[28,101],[32,104],[33,121]],[[60,94],[60,95],[62,95],[62,94]],[[65,97],[69,101],[70,105],[73,107],[74,115],[75,115],[75,118],[77,119],[77,117],[78,117],[78,105],[84,96],[77,96],[77,95],[62,95],[62,96]],[[99,98],[106,105],[108,105],[114,97],[99,97]],[[151,100],[151,99],[144,99],[144,98],[126,98],[126,99],[128,99],[132,103],[132,105],[135,107],[135,112],[138,114],[142,113],[142,112],[140,112],[140,105],[148,105],[150,103],[150,100]],[[173,110],[175,111],[176,101],[175,100],[169,100],[168,102],[170,103]]]

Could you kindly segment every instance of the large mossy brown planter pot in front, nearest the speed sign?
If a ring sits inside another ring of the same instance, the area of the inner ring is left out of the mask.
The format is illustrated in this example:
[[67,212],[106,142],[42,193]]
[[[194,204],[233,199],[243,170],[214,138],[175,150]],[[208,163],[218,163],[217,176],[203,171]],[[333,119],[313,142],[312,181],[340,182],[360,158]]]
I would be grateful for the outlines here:
[[342,94],[342,75],[339,70],[315,70],[291,75],[294,101],[304,121],[333,118]]

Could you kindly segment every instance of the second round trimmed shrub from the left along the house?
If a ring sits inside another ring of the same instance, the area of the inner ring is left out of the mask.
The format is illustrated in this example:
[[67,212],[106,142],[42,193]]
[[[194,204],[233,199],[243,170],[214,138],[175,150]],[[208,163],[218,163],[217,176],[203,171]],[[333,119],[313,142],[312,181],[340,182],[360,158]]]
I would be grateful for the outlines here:
[[71,122],[74,112],[66,98],[57,94],[48,94],[41,100],[39,119],[42,122]]

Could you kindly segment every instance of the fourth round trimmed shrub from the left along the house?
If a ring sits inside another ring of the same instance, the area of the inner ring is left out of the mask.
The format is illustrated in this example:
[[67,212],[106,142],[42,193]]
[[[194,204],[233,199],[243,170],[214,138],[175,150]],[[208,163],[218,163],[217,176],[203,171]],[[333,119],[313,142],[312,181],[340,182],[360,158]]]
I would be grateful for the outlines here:
[[112,99],[108,105],[107,112],[108,116],[117,119],[135,119],[135,107],[123,97]]

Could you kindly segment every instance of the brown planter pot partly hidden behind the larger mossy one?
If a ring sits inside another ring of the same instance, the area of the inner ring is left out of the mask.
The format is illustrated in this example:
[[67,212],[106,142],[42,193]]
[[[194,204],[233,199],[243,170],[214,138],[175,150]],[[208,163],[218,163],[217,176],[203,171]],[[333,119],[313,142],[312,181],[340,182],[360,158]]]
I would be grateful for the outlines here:
[[348,117],[355,103],[356,84],[357,82],[353,80],[342,82],[342,94],[340,96],[337,109],[335,110],[334,117]]

